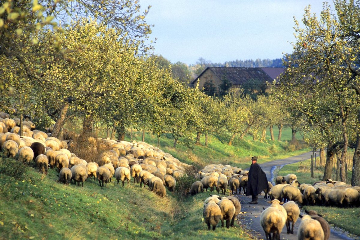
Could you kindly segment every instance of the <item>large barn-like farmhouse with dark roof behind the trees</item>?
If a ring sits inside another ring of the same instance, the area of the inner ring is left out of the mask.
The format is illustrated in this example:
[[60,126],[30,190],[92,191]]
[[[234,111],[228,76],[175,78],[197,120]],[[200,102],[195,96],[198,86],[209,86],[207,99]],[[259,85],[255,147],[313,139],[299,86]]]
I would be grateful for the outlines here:
[[207,67],[190,85],[204,89],[209,86],[219,92],[224,83],[230,89],[237,89],[245,84],[264,84],[272,82],[284,72],[281,67]]

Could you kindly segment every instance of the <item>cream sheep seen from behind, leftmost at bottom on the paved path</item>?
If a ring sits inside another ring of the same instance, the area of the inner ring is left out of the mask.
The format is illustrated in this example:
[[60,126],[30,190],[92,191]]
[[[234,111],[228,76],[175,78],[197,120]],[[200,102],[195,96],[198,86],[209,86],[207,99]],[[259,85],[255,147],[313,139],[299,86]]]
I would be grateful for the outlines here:
[[[276,186],[276,185],[275,185]],[[264,229],[266,240],[280,239],[280,232],[283,231],[286,218],[279,209],[274,207],[266,208],[260,215],[260,225]],[[271,237],[271,233],[273,236]]]

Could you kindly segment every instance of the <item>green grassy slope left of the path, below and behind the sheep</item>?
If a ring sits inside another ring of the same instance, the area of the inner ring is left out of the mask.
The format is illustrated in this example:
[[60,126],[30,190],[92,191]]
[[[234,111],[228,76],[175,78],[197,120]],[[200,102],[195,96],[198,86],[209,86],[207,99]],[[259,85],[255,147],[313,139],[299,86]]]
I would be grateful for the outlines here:
[[[135,136],[138,141],[139,135]],[[283,139],[287,135],[284,133]],[[145,141],[156,145],[157,139],[147,135]],[[264,161],[294,155],[277,141],[244,140],[227,146],[213,137],[208,147],[195,146],[193,150],[169,147],[172,139],[166,136],[161,143],[162,150],[194,165],[248,167],[252,155]],[[8,160],[2,161],[0,166]],[[64,186],[55,182],[54,169],[47,175],[30,167],[25,170],[20,179],[0,173],[0,239],[247,239],[240,226],[207,231],[202,210],[209,192],[179,201],[169,191],[160,198],[134,183],[121,187],[113,181],[102,189],[98,182],[88,180],[84,187]]]

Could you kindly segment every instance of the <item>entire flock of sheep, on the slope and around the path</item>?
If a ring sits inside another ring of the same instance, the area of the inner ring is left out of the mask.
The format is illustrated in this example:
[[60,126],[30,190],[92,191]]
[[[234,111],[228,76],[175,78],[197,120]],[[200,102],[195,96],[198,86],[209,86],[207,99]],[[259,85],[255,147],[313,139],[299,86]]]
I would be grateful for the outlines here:
[[[98,179],[100,187],[112,181],[113,176],[117,184],[125,181],[129,185],[131,177],[134,183],[148,185],[151,191],[164,197],[166,188],[173,191],[176,179],[183,176],[184,167],[168,153],[144,142],[117,142],[110,139],[99,139],[108,146],[107,151],[95,161],[80,159],[67,148],[66,141],[50,137],[48,133],[35,129],[31,121],[23,121],[23,134],[18,135],[19,119],[10,119],[5,113],[0,113],[0,147],[5,156],[17,158],[24,163],[35,161],[36,168],[46,173],[48,168],[56,168],[59,172],[57,182],[68,185],[71,180],[77,185],[87,178]],[[217,193],[226,194],[228,187],[231,193],[246,192],[248,171],[230,165],[211,164],[195,174],[195,181],[189,194],[195,195],[216,189]],[[239,190],[239,191],[238,191]],[[269,182],[269,189],[264,189],[265,198],[270,196],[271,205],[260,217],[260,225],[265,231],[266,239],[280,239],[280,232],[284,225],[287,233],[293,234],[294,223],[300,215],[298,204],[307,205],[335,205],[342,207],[359,206],[360,187],[351,187],[344,182],[315,182],[314,184],[300,184],[295,174],[276,177],[275,185]],[[215,230],[221,221],[221,226],[234,226],[234,219],[241,211],[241,204],[234,196],[220,197],[210,195],[204,201],[203,217],[208,229]],[[301,216],[302,221],[298,230],[298,239],[313,236],[311,239],[327,240],[330,235],[328,223],[316,212]],[[290,225],[292,223],[292,225]],[[271,236],[273,234],[273,236]]]

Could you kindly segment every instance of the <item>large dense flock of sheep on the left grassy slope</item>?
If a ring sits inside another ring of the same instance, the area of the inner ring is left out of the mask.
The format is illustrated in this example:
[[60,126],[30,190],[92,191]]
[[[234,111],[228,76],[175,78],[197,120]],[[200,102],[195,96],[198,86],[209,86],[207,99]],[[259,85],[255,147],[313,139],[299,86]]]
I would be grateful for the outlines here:
[[[149,186],[151,191],[164,197],[166,188],[173,191],[176,178],[183,176],[187,164],[181,163],[169,153],[145,142],[117,142],[111,139],[98,139],[107,150],[97,159],[84,160],[71,153],[67,141],[50,137],[48,133],[35,129],[31,121],[23,121],[23,134],[19,133],[20,119],[10,119],[8,114],[0,113],[0,147],[7,157],[17,158],[27,164],[35,162],[41,173],[49,168],[58,170],[57,182],[68,185],[71,181],[84,186],[88,177],[98,179],[100,187],[112,181],[117,184],[125,181]],[[90,137],[89,141],[95,141]]]

